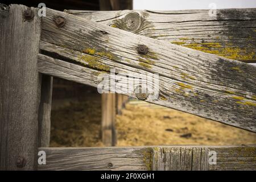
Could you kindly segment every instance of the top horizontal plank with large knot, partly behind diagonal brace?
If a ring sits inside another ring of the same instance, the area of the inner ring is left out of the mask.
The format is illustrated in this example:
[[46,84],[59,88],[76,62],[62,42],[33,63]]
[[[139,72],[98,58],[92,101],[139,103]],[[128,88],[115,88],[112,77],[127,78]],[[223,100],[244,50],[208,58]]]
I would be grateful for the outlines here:
[[216,16],[209,16],[209,10],[66,12],[135,34],[256,63],[256,9],[220,9]]

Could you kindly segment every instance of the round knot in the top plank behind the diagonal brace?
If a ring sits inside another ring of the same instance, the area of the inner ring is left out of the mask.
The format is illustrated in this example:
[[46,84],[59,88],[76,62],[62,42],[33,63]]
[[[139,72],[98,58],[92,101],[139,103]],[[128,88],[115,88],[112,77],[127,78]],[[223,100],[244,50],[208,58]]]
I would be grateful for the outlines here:
[[136,12],[131,12],[123,18],[123,23],[127,31],[136,31],[141,27],[141,16]]

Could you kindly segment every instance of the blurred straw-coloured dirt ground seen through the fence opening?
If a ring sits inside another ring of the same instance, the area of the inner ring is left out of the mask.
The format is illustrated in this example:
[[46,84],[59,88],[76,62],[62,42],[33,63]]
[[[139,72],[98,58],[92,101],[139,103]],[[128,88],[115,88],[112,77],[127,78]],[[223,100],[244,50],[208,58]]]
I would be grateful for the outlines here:
[[[51,147],[100,147],[99,99],[52,111]],[[195,115],[129,102],[116,116],[117,146],[255,144],[256,134]]]

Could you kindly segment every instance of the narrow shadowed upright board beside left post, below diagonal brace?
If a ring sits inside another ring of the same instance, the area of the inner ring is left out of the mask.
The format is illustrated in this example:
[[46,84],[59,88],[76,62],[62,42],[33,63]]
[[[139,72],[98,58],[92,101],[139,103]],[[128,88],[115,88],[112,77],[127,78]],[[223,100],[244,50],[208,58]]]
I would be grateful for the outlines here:
[[42,75],[38,115],[38,146],[49,147],[51,136],[52,76]]

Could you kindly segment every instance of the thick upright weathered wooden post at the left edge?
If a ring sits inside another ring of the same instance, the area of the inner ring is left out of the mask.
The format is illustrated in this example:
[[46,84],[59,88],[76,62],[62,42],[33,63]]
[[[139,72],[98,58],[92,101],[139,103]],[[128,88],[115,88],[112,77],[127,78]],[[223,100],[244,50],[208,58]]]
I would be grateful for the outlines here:
[[36,169],[40,18],[23,5],[0,10],[0,169]]

